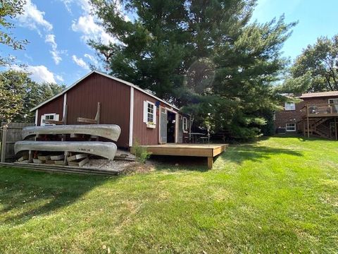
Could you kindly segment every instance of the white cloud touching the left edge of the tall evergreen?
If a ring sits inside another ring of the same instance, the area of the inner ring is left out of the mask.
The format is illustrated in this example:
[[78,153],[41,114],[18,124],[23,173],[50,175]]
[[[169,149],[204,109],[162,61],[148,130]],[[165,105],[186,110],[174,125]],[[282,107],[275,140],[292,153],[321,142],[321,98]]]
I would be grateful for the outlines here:
[[74,32],[82,32],[81,39],[84,42],[89,39],[101,40],[104,44],[116,42],[116,39],[108,35],[101,25],[96,24],[96,20],[91,15],[80,16],[78,20],[73,20],[72,29]]

